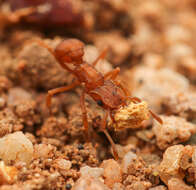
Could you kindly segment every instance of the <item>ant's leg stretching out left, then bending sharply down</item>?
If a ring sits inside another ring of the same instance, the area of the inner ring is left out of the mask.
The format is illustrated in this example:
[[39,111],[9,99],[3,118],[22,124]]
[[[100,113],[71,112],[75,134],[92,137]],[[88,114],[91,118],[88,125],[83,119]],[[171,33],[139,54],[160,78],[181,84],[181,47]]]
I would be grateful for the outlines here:
[[80,84],[79,81],[75,81],[75,82],[73,82],[72,84],[70,84],[68,86],[63,86],[63,87],[60,87],[60,88],[55,88],[55,89],[49,90],[48,94],[47,94],[47,97],[46,97],[47,107],[50,109],[52,96],[54,96],[55,94],[61,93],[61,92],[71,90],[72,88],[75,88],[79,84]]

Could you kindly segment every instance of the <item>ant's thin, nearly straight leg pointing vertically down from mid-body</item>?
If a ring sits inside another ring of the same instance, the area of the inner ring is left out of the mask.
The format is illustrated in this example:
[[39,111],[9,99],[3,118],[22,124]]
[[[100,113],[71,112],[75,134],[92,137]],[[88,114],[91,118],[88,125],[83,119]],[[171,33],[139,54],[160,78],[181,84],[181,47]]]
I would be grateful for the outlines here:
[[86,111],[86,105],[85,105],[85,91],[82,91],[82,95],[80,96],[80,106],[82,109],[82,119],[83,119],[83,124],[84,124],[84,129],[85,129],[85,134],[86,134],[86,139],[89,141],[89,132],[88,132],[88,119],[87,119],[87,111]]

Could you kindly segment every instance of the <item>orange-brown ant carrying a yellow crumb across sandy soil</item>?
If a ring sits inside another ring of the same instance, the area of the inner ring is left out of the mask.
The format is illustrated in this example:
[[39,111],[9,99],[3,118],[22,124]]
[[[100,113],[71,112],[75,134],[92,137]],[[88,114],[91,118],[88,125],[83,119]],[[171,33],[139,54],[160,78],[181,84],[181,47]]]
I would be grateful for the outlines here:
[[[65,92],[75,88],[76,86],[82,85],[83,91],[80,97],[80,105],[82,109],[86,138],[89,140],[89,127],[85,106],[85,95],[88,94],[97,102],[99,106],[105,110],[105,115],[102,119],[100,130],[108,138],[113,149],[114,157],[118,159],[115,143],[106,130],[107,118],[110,116],[112,121],[115,122],[113,117],[114,111],[119,109],[121,106],[126,105],[127,99],[130,99],[133,102],[140,102],[141,100],[136,97],[130,97],[127,89],[125,89],[119,82],[115,80],[118,73],[120,72],[120,68],[117,67],[105,75],[101,74],[95,69],[98,61],[106,56],[108,49],[105,48],[92,64],[88,64],[83,61],[84,44],[80,40],[64,40],[57,45],[55,50],[52,50],[43,42],[39,41],[39,44],[47,48],[54,55],[61,67],[72,73],[76,78],[75,81],[68,86],[63,86],[48,91],[48,95],[46,97],[46,104],[48,108],[50,108],[51,99],[55,94]],[[162,123],[161,118],[151,111],[150,113],[159,123]]]

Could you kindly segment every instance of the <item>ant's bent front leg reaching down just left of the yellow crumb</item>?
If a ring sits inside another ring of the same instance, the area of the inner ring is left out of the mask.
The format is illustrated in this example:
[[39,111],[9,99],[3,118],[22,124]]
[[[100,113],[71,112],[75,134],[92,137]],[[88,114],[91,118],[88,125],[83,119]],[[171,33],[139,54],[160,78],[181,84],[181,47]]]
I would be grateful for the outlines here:
[[108,118],[109,112],[110,112],[109,110],[106,111],[105,116],[104,116],[104,118],[102,120],[101,131],[103,131],[103,133],[105,134],[105,136],[109,140],[109,142],[110,142],[110,144],[112,146],[114,157],[115,157],[116,160],[118,160],[119,157],[118,157],[118,153],[117,153],[117,150],[116,150],[116,145],[115,145],[114,141],[112,140],[112,137],[109,135],[109,133],[106,130],[106,122],[107,122],[107,118]]

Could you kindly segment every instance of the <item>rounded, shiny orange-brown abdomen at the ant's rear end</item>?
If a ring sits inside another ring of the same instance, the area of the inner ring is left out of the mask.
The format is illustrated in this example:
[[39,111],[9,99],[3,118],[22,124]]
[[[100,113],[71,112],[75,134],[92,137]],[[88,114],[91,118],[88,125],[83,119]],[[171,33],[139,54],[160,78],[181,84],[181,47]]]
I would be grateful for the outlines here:
[[77,39],[62,41],[55,49],[55,57],[61,62],[81,64],[84,55],[84,44]]

